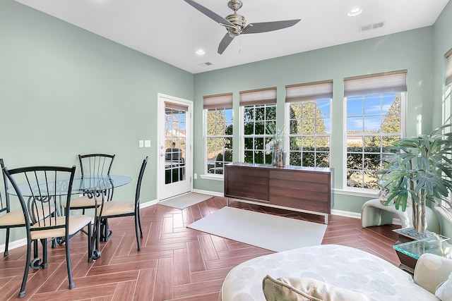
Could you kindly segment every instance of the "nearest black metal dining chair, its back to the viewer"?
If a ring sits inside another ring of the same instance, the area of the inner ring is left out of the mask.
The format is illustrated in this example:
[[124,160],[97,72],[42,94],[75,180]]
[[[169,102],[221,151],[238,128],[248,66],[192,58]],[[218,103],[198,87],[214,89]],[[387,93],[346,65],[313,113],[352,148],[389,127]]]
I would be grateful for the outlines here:
[[[19,297],[25,295],[30,266],[47,267],[47,240],[62,238],[66,249],[66,267],[69,278],[69,288],[73,288],[71,271],[70,238],[83,228],[88,233],[88,262],[93,260],[92,248],[92,217],[85,215],[70,215],[71,190],[76,166],[31,166],[4,168],[4,174],[12,185],[20,201],[25,221],[27,238],[27,262],[20,286]],[[20,183],[20,184],[18,184]],[[64,215],[56,214],[55,208],[64,202]],[[42,244],[42,259],[38,257],[37,241]],[[34,259],[31,259],[31,249],[34,245]]]

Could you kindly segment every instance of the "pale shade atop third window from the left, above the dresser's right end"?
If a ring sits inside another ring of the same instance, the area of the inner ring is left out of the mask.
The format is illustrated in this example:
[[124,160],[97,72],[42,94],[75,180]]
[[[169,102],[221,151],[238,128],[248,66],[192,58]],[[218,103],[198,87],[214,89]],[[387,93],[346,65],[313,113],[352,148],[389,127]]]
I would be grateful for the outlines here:
[[322,98],[333,98],[332,80],[285,87],[285,102],[304,102]]

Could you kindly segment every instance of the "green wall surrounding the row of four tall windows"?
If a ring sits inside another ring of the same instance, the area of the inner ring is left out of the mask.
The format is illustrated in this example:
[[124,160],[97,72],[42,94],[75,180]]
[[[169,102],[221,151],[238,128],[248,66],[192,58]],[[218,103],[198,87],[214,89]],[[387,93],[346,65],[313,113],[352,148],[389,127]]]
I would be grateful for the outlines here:
[[[334,168],[335,190],[343,190],[343,79],[356,75],[408,70],[406,135],[428,133],[441,121],[441,108],[437,107],[441,104],[438,91],[442,92],[444,89],[444,53],[452,44],[450,20],[452,4],[448,4],[435,26],[196,74],[194,131],[203,133],[203,95],[234,93],[234,116],[237,116],[234,122],[234,137],[239,137],[240,91],[277,87],[278,123],[281,124],[285,118],[285,85],[333,80],[331,167]],[[437,49],[439,44],[441,50]],[[195,137],[194,150],[194,173],[202,175],[203,135]],[[234,160],[238,160],[239,140],[234,140],[234,152]],[[222,181],[203,179],[200,176],[194,180],[194,188],[223,191]],[[334,209],[342,211],[359,213],[362,204],[371,198],[365,194],[338,192],[340,193],[335,193],[334,196]]]

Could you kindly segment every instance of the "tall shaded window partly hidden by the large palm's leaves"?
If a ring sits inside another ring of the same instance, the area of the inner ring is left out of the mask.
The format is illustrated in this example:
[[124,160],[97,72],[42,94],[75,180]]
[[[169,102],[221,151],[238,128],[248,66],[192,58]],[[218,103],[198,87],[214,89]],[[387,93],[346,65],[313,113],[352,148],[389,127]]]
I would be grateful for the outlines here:
[[381,158],[403,137],[406,70],[345,78],[346,186],[379,189]]

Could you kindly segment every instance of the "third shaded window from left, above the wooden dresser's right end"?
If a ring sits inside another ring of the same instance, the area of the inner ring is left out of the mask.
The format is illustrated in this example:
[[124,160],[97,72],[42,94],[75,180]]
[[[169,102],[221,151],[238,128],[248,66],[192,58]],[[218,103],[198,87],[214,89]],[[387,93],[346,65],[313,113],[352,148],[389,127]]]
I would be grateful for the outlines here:
[[286,87],[290,165],[330,166],[330,118],[333,82]]

